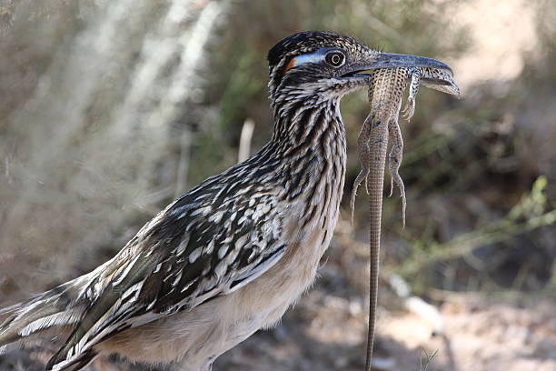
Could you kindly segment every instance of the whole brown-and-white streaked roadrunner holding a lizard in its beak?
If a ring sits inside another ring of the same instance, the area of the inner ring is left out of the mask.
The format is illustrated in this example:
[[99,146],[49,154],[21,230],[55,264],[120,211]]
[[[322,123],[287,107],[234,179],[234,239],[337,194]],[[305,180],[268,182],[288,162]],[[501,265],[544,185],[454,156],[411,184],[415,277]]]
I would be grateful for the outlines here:
[[346,162],[340,100],[373,70],[448,68],[303,32],[268,53],[274,129],[245,162],[205,180],[93,272],[0,312],[0,351],[48,339],[48,370],[117,353],[210,370],[274,326],[313,283],[338,219]]

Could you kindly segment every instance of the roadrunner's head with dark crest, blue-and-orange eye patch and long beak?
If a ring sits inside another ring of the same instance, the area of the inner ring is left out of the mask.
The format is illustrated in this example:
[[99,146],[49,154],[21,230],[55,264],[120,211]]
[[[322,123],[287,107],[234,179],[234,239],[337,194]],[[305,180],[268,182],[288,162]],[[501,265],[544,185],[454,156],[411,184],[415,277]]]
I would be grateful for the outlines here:
[[[273,104],[314,96],[322,100],[340,98],[369,85],[377,68],[429,67],[452,75],[450,66],[432,58],[382,53],[349,36],[307,31],[291,35],[268,53],[269,89]],[[445,85],[428,81],[428,86]]]

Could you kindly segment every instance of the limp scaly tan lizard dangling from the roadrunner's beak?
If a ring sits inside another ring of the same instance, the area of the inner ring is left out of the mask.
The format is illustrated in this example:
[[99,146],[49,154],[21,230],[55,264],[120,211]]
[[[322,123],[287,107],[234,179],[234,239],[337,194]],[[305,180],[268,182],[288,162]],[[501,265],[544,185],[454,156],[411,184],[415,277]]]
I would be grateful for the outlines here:
[[[409,96],[403,110],[404,117],[409,121],[415,112],[415,95],[422,83],[444,93],[459,95],[459,88],[452,80],[452,75],[436,68],[389,68],[381,69],[371,75],[369,85],[369,104],[371,113],[365,119],[359,134],[357,145],[362,170],[357,175],[352,188],[351,207],[353,207],[358,186],[365,181],[369,194],[370,213],[370,295],[369,295],[369,333],[367,337],[366,369],[371,369],[372,345],[376,323],[376,306],[378,297],[379,256],[381,241],[382,187],[384,167],[388,147],[388,137],[392,140],[389,155],[389,171],[391,175],[390,196],[395,183],[402,196],[402,223],[405,226],[405,187],[398,170],[402,164],[403,139],[398,116],[402,106],[402,94],[410,79]],[[433,82],[433,83],[432,83]],[[441,84],[439,84],[439,82]]]

